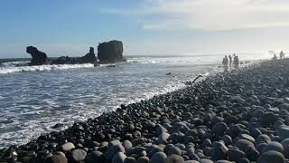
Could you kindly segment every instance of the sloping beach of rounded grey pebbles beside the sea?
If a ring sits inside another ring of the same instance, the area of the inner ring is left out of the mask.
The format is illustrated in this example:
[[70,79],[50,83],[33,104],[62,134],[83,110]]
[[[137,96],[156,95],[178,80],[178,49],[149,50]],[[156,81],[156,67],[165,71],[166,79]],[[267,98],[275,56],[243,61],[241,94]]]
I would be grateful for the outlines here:
[[0,149],[0,162],[289,162],[288,67],[284,59],[218,73]]

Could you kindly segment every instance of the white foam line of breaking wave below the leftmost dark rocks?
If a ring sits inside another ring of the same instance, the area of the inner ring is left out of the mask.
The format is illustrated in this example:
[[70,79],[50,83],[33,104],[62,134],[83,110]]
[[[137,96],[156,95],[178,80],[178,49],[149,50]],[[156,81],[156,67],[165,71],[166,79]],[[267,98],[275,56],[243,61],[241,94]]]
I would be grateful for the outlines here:
[[61,64],[61,65],[40,65],[40,66],[5,66],[0,67],[0,74],[14,73],[14,72],[42,72],[63,69],[76,69],[76,68],[90,68],[94,67],[93,64]]

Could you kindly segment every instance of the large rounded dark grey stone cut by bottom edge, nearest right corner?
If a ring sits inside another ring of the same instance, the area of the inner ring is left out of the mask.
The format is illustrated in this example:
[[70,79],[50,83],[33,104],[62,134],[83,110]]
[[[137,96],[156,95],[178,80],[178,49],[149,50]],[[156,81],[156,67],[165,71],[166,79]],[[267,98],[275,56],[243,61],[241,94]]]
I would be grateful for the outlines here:
[[257,159],[257,163],[285,163],[284,155],[277,151],[267,151]]

